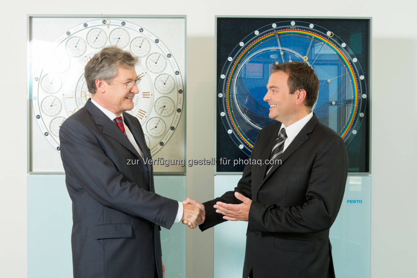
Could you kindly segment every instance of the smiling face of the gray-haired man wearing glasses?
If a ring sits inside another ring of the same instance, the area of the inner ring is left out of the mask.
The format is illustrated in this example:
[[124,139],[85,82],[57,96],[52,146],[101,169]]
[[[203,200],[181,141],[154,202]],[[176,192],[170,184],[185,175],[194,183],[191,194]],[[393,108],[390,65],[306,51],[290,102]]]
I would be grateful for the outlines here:
[[92,97],[101,106],[110,110],[116,115],[133,109],[133,97],[139,93],[139,89],[134,85],[130,89],[126,89],[129,82],[134,83],[136,79],[136,70],[134,68],[119,67],[117,75],[111,84],[105,80],[95,80],[97,93]]

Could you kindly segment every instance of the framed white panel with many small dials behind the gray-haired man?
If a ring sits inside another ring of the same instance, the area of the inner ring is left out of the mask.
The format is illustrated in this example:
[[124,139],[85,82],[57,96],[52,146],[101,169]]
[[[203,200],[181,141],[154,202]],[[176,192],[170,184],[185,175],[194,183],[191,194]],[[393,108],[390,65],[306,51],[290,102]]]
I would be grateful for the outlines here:
[[159,158],[155,172],[185,173],[186,17],[156,15],[28,16],[29,173],[63,173],[60,125],[90,98],[84,66],[108,45],[140,58],[139,93],[127,112]]

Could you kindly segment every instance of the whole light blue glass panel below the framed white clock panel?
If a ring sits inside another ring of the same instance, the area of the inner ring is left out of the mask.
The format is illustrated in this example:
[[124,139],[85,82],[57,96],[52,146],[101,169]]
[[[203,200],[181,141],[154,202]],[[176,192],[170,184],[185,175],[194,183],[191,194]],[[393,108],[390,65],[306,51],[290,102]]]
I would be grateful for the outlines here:
[[[185,176],[156,176],[156,192],[182,201]],[[28,176],[28,278],[72,278],[72,203],[65,175]],[[166,277],[186,277],[186,227],[162,228]]]

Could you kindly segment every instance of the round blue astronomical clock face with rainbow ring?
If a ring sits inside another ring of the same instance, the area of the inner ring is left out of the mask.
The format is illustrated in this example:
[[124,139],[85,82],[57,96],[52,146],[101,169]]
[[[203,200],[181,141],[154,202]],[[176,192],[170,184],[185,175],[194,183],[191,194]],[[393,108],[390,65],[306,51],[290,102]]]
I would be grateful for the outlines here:
[[313,111],[346,145],[365,113],[367,90],[362,68],[337,34],[318,25],[283,21],[253,30],[236,45],[219,79],[218,104],[227,133],[250,155],[259,131],[275,122],[263,98],[272,63],[301,61],[319,78]]

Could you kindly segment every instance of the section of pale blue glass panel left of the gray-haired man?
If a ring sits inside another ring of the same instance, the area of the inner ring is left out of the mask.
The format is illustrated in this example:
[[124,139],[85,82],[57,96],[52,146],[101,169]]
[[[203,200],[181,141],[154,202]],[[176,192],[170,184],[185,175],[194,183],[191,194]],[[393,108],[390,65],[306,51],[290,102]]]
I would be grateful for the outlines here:
[[28,176],[28,278],[72,278],[72,202],[65,175]]

